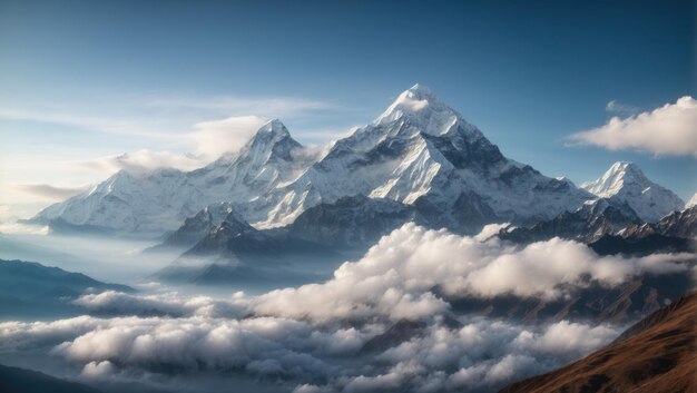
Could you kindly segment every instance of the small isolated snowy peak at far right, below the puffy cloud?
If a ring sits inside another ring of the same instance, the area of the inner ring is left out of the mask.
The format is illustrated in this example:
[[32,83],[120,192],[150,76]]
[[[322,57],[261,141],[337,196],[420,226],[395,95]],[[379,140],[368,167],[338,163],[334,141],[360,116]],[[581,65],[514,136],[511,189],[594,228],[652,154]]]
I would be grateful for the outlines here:
[[673,191],[649,180],[634,163],[615,163],[600,178],[581,188],[601,197],[626,202],[646,222],[681,210],[685,203]]

